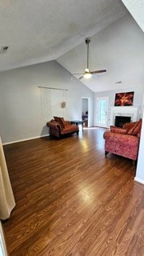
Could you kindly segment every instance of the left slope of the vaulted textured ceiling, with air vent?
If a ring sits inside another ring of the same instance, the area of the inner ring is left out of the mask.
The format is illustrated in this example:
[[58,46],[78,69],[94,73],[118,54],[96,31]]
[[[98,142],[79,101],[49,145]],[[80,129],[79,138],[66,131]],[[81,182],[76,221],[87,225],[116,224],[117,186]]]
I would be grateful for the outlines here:
[[0,71],[57,59],[126,13],[121,0],[1,0]]

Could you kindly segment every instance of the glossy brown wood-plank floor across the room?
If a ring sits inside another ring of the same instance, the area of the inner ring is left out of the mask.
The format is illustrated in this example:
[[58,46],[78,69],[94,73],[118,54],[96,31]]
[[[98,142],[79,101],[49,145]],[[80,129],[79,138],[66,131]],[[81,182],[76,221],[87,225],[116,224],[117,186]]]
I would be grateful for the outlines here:
[[144,186],[131,160],[105,157],[104,129],[4,146],[16,207],[10,256],[143,256]]

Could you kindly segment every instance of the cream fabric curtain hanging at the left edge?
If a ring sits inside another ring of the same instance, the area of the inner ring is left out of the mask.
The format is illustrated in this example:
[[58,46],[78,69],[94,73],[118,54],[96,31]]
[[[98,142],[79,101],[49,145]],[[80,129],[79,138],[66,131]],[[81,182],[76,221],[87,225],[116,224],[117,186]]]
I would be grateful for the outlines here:
[[14,194],[10,184],[10,178],[6,166],[0,137],[0,219],[10,218],[10,212],[15,206]]

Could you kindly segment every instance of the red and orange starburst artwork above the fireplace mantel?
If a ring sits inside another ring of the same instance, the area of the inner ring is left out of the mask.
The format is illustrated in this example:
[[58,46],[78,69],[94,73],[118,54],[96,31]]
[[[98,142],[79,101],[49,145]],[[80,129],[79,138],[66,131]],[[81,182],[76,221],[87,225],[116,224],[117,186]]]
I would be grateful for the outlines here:
[[114,106],[133,106],[134,91],[115,94]]

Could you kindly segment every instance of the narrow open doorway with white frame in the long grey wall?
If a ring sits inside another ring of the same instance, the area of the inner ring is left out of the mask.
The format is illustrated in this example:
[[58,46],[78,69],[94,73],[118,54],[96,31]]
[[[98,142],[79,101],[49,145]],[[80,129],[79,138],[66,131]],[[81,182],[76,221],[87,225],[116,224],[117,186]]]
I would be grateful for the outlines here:
[[84,126],[89,127],[90,124],[90,98],[82,97],[82,120],[84,120]]

